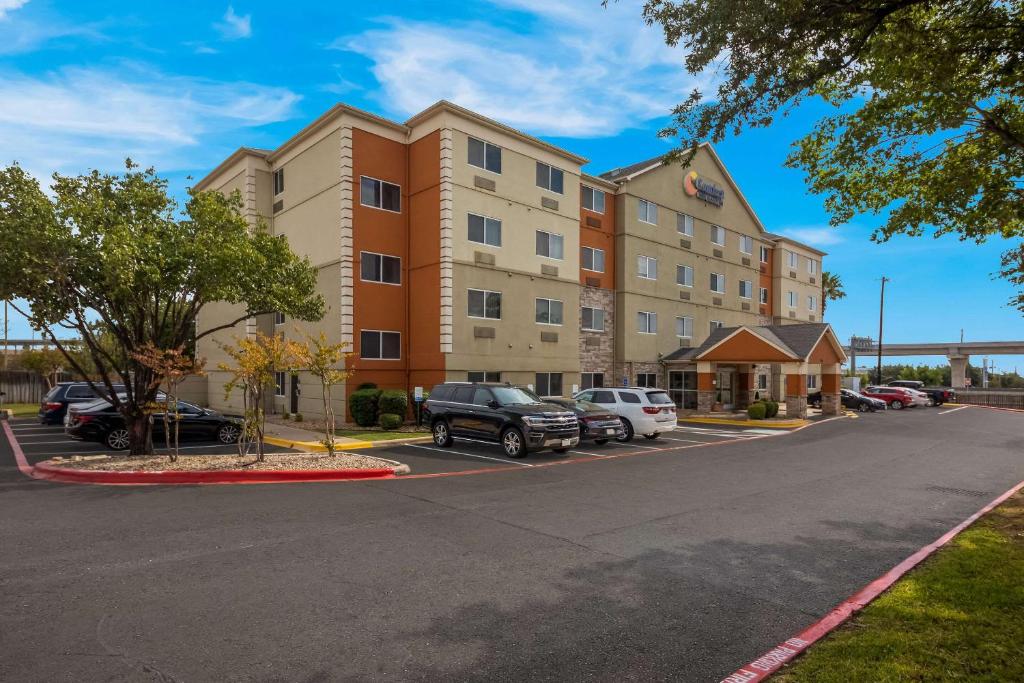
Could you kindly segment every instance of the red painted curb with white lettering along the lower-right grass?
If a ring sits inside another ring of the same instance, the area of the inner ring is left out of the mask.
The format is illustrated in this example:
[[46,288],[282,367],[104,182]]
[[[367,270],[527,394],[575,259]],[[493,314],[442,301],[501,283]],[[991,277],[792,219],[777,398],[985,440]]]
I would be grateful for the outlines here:
[[872,600],[889,590],[889,588],[901,579],[903,574],[921,564],[922,561],[932,555],[939,548],[956,538],[961,531],[978,521],[982,515],[990,512],[1022,488],[1024,488],[1024,481],[1021,481],[1016,486],[983,507],[981,510],[978,510],[959,524],[952,527],[938,539],[925,546],[913,555],[910,555],[908,558],[869,583],[864,588],[854,593],[852,596],[841,602],[839,606],[830,612],[801,631],[793,638],[779,643],[745,667],[741,667],[729,676],[723,678],[722,683],[753,683],[756,681],[763,681],[768,678],[781,669],[782,665],[805,651],[815,642],[831,633],[837,627],[846,622],[853,614],[866,607]]

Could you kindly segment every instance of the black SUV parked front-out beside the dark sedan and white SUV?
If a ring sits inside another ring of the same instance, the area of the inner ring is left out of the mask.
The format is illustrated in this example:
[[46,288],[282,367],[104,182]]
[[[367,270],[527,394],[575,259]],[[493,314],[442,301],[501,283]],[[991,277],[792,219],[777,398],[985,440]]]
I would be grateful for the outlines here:
[[438,384],[424,416],[434,443],[444,447],[452,437],[476,438],[501,443],[509,458],[522,458],[542,449],[565,453],[580,442],[575,415],[510,384]]

